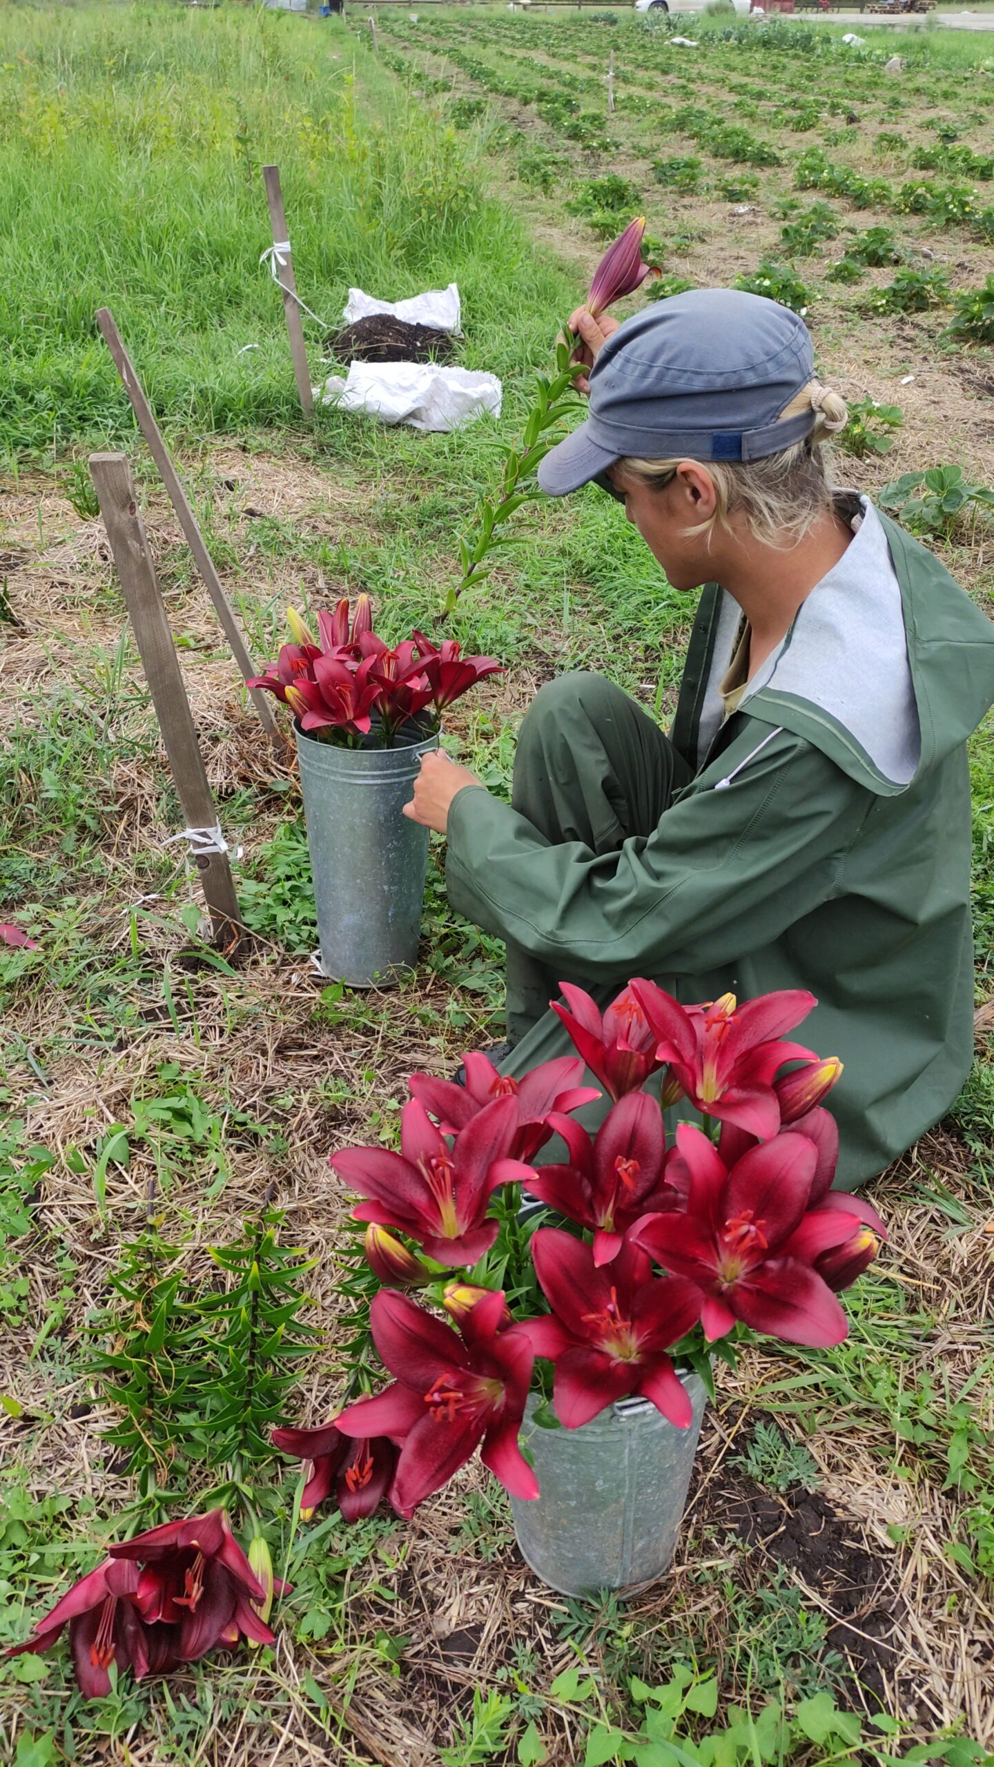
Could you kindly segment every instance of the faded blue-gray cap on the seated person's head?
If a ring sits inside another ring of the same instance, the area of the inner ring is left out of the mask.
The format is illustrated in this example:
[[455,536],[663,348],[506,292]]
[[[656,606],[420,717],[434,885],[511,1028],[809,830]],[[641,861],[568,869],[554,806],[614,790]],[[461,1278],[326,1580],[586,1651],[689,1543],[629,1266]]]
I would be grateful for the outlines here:
[[796,313],[736,288],[692,288],[624,320],[591,369],[589,417],[550,449],[550,497],[600,479],[616,459],[761,459],[808,436],[815,412],[778,422],[814,378]]

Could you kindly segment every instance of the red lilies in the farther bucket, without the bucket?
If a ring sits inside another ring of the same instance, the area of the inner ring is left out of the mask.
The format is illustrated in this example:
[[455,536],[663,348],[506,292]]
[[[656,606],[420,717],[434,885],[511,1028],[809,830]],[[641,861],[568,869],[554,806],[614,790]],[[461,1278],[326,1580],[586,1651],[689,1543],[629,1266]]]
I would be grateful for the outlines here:
[[294,643],[249,687],[283,700],[318,742],[389,749],[409,730],[423,737],[453,700],[501,670],[493,657],[463,657],[456,638],[433,645],[416,631],[391,648],[373,631],[368,595],[354,613],[347,599],[318,613],[320,643],[294,608],[287,617]]

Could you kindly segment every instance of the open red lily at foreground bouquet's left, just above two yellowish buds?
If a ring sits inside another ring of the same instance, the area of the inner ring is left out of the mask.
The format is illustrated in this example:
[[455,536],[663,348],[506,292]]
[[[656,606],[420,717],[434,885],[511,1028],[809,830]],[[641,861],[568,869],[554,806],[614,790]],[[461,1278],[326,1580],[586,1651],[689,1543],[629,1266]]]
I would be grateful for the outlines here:
[[400,1119],[400,1154],[386,1147],[345,1147],[331,1166],[350,1189],[370,1198],[354,1221],[396,1226],[430,1258],[451,1269],[476,1263],[497,1239],[486,1209],[501,1184],[518,1184],[531,1166],[508,1157],[518,1127],[515,1099],[495,1099],[456,1134],[451,1149],[410,1099]]

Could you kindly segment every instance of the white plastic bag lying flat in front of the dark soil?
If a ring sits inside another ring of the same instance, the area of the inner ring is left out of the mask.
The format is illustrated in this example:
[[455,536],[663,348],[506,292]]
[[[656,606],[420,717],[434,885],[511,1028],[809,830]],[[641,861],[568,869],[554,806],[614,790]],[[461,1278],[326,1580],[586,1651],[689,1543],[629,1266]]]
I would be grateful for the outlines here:
[[[421,322],[424,323],[424,322]],[[469,368],[439,362],[352,362],[343,380],[333,375],[315,387],[322,405],[364,412],[384,424],[412,429],[458,429],[492,412],[501,415],[501,382]]]

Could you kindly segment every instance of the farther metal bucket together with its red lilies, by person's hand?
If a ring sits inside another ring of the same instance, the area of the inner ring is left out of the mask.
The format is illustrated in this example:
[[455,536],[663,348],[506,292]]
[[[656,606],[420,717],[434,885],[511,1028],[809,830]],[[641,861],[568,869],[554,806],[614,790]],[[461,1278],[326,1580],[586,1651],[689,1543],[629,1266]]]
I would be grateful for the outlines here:
[[294,641],[249,687],[295,714],[320,967],[356,988],[389,982],[417,956],[428,830],[401,815],[442,712],[501,670],[458,640],[412,633],[393,648],[368,595],[317,617],[320,643],[290,608]]

